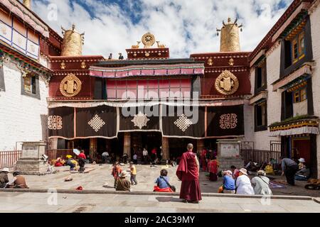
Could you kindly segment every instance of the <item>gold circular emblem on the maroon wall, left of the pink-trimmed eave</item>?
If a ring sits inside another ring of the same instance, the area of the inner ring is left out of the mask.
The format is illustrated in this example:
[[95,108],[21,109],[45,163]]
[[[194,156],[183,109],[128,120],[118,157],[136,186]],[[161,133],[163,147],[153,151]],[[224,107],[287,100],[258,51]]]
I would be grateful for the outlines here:
[[76,96],[81,90],[81,84],[80,79],[75,74],[68,74],[60,82],[60,92],[66,97]]

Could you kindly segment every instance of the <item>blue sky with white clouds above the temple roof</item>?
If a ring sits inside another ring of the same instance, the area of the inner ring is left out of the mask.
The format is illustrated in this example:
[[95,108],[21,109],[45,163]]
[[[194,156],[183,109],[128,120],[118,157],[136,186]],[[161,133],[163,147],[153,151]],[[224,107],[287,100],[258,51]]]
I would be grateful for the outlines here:
[[[83,55],[127,57],[146,32],[170,48],[170,57],[218,52],[216,28],[228,17],[243,23],[240,45],[252,51],[293,0],[33,0],[32,9],[61,35],[61,26],[85,32]],[[142,44],[140,45],[142,47]]]

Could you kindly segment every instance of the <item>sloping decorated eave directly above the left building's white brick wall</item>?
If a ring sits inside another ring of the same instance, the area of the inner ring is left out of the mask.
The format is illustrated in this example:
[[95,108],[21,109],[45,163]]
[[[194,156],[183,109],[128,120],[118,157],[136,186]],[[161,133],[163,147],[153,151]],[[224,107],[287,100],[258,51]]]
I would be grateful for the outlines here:
[[8,45],[3,44],[0,41],[0,65],[2,65],[3,62],[9,60],[9,58],[17,62],[18,67],[20,67],[21,70],[25,69],[31,72],[35,72],[36,74],[43,74],[46,76],[51,76],[53,74],[52,70],[49,70],[48,68],[44,67],[36,60],[33,60],[31,57],[28,57],[26,55],[23,55],[23,53],[12,49]]

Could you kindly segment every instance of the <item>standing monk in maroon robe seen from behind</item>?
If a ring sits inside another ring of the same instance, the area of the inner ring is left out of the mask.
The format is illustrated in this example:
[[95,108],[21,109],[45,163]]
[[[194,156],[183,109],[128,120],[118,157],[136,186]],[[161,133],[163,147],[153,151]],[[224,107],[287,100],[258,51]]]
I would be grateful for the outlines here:
[[180,199],[183,202],[198,203],[201,200],[199,184],[199,162],[193,145],[188,144],[188,151],[183,153],[176,170],[176,176],[181,180]]

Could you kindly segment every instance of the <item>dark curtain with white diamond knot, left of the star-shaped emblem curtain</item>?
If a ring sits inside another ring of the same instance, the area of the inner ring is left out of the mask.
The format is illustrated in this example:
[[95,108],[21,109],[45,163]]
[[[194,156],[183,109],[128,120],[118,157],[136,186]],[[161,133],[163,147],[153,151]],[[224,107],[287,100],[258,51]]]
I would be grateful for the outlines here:
[[117,136],[117,108],[112,106],[97,106],[76,109],[76,137]]

